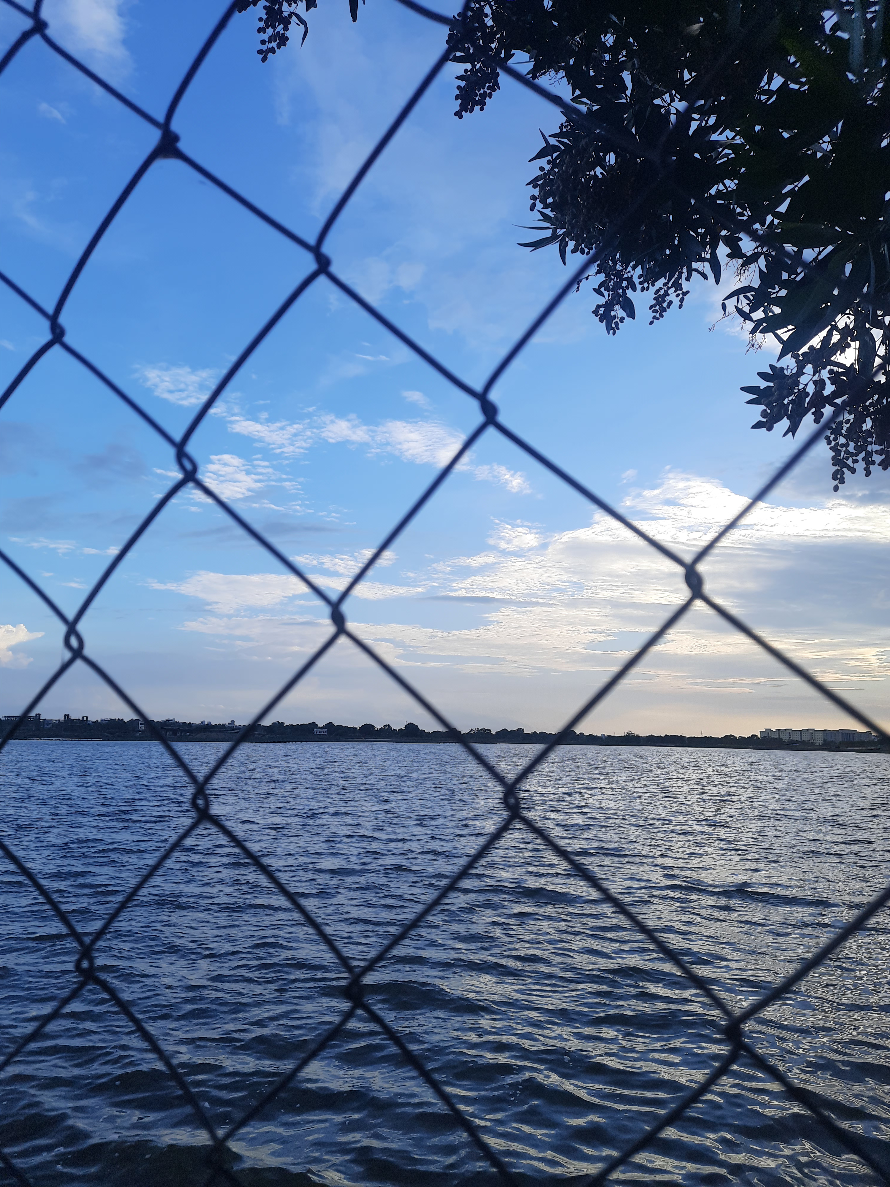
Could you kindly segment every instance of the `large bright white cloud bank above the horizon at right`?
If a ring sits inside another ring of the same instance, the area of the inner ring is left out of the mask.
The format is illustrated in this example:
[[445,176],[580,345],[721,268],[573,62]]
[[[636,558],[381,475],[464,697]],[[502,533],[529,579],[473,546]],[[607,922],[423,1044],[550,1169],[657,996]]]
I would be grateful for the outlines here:
[[[646,515],[641,522],[675,548],[692,548],[743,503],[714,480],[668,471],[651,489],[631,491],[623,510]],[[769,504],[751,516],[744,534],[731,534],[708,558],[707,588],[818,678],[881,716],[890,683],[881,577],[888,535],[881,508],[838,500],[803,508]],[[393,601],[383,623],[361,621],[361,602],[349,615],[351,629],[388,662],[422,669],[411,679],[465,724],[473,724],[468,715],[495,724],[506,712],[526,728],[553,728],[688,596],[680,566],[603,513],[586,527],[555,535],[523,521],[494,521],[489,542],[490,551],[433,561],[425,571],[394,575],[392,585],[367,583],[363,592],[363,585],[356,590],[356,597],[369,601],[418,595],[460,601],[453,626],[444,609],[436,627],[426,626],[426,612],[418,618],[412,601]],[[298,559],[318,584],[343,589],[365,556]],[[276,579],[271,575],[256,577],[267,608],[260,614],[249,609],[260,601],[256,591],[233,592],[230,583],[244,578],[197,576],[176,588],[225,607],[223,614],[243,612],[202,617],[184,623],[186,630],[248,650],[265,648],[250,654],[274,660],[288,649],[307,649],[329,629],[322,605],[314,627],[269,614],[282,592],[263,584]],[[852,583],[858,583],[856,597]],[[694,607],[610,697],[596,724],[583,728],[691,732],[717,725],[717,732],[750,732],[778,722],[776,713],[790,724],[815,726],[843,717],[706,607]]]

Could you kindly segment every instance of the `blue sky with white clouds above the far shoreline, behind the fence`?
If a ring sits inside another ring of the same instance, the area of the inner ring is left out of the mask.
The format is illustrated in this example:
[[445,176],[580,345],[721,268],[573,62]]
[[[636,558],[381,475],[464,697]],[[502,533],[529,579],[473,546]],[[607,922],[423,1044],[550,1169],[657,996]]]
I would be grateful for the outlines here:
[[[45,15],[61,44],[161,116],[222,8],[47,0]],[[4,49],[23,25],[0,12]],[[388,0],[371,0],[357,25],[324,2],[305,45],[263,65],[254,14],[236,18],[182,104],[180,146],[311,240],[441,36]],[[51,306],[154,133],[38,40],[0,89],[0,267]],[[566,277],[555,252],[516,246],[530,237],[528,158],[558,116],[506,80],[485,113],[456,120],[453,90],[449,70],[325,249],[375,309],[481,383]],[[84,269],[63,324],[176,434],[311,268],[185,165],[160,161]],[[713,285],[617,338],[593,303],[589,288],[570,296],[494,399],[514,431],[691,556],[792,447],[749,430],[756,413],[738,391],[768,351],[748,354],[731,323],[713,328]],[[4,386],[44,336],[40,318],[0,291]],[[472,400],[320,280],[190,447],[205,481],[333,591],[477,421]],[[0,413],[0,465],[2,547],[66,612],[178,474],[170,446],[59,350]],[[889,502],[884,475],[833,495],[820,444],[704,567],[714,597],[884,722]],[[458,725],[555,728],[685,591],[679,570],[489,432],[345,610]],[[8,571],[0,599],[0,702],[15,712],[58,665],[62,633]],[[83,634],[146,713],[240,722],[305,661],[325,623],[317,598],[186,490],[127,556]],[[40,710],[129,716],[82,666]],[[428,724],[344,641],[272,717]],[[697,609],[581,728],[724,734],[843,721]]]

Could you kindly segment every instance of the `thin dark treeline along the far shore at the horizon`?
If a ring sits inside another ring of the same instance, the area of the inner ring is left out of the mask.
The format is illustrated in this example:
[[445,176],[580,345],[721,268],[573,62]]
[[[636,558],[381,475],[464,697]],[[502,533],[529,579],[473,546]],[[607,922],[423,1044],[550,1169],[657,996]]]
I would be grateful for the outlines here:
[[[7,734],[15,724],[14,717],[4,717],[0,732]],[[43,741],[80,740],[97,742],[151,742],[155,730],[161,737],[177,742],[231,742],[244,729],[235,722],[212,724],[210,722],[177,722],[170,718],[151,723],[131,718],[101,718],[89,721],[85,717],[66,717],[64,719],[42,718],[39,715],[26,718],[15,731],[15,737]],[[464,740],[476,743],[530,743],[540,745],[552,742],[557,734],[547,730],[490,730],[477,726],[465,732],[457,730],[422,730],[414,722],[407,722],[399,729],[392,725],[338,725],[335,722],[301,722],[286,724],[272,722],[271,725],[254,725],[244,741],[248,742],[405,742],[436,743],[457,742]],[[744,750],[856,750],[886,751],[886,742],[828,742],[816,745],[812,742],[784,742],[778,738],[762,738],[755,734],[748,736],[724,734],[723,737],[687,737],[682,734],[584,734],[568,730],[562,740],[567,745],[660,745],[689,747],[708,749],[744,749]]]

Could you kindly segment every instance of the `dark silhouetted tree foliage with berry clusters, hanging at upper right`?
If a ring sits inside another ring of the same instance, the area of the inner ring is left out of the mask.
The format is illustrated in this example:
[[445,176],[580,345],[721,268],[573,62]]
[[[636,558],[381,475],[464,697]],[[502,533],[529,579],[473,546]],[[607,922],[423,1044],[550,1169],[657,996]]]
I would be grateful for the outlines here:
[[[267,25],[297,2],[266,0]],[[522,246],[595,256],[584,280],[608,334],[636,317],[634,294],[651,324],[729,266],[724,313],[752,345],[780,343],[743,388],[752,427],[794,436],[840,410],[834,489],[859,464],[890,469],[884,0],[468,0],[449,37],[458,118],[513,59],[570,88],[578,115],[532,158],[543,234]]]

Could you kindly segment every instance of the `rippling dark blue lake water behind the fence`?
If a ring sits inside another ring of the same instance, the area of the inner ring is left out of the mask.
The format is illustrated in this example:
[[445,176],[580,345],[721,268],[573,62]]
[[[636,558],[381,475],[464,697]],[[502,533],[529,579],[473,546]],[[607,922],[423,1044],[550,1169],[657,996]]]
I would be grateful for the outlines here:
[[[205,770],[220,748],[182,750]],[[487,753],[511,773],[533,748]],[[190,788],[154,744],[14,742],[0,773],[4,839],[85,933],[191,819]],[[529,814],[735,1008],[890,880],[886,756],[567,748],[529,785]],[[247,745],[211,799],[356,964],[503,819],[500,791],[456,745]],[[0,862],[6,1052],[74,988],[77,950]],[[749,1027],[888,1166],[889,937],[882,913]],[[96,970],[223,1129],[345,1007],[330,952],[208,826],[101,940]],[[522,1183],[596,1170],[726,1049],[703,995],[520,827],[367,984]],[[205,1181],[205,1135],[95,985],[0,1077],[0,1147],[36,1187]],[[361,1015],[233,1147],[246,1187],[498,1181]],[[614,1181],[873,1180],[742,1062]],[[0,1182],[15,1182],[1,1166]]]

